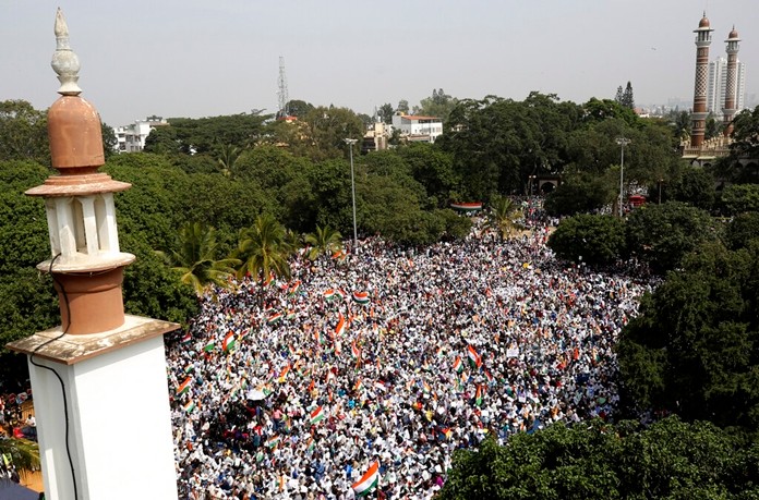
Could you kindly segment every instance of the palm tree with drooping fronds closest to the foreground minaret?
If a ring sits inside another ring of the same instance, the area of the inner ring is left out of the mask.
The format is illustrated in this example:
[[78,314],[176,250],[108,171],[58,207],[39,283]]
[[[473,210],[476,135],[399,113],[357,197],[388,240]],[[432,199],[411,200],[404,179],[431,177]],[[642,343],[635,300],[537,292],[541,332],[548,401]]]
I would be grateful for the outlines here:
[[179,230],[176,248],[156,253],[181,275],[180,281],[193,286],[198,295],[212,283],[228,286],[234,267],[240,264],[236,258],[216,258],[216,230],[200,222],[190,222]]

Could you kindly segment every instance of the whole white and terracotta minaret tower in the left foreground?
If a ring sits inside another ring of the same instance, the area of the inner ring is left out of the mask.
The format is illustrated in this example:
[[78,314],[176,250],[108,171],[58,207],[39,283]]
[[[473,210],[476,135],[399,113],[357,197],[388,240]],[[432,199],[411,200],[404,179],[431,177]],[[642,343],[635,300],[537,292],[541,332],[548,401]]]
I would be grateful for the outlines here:
[[45,202],[50,272],[62,326],[8,344],[27,355],[48,500],[177,499],[164,333],[176,324],[124,315],[113,194],[130,184],[98,172],[100,117],[82,97],[80,63],[56,15],[52,68],[61,97],[48,111],[59,174],[26,192]]

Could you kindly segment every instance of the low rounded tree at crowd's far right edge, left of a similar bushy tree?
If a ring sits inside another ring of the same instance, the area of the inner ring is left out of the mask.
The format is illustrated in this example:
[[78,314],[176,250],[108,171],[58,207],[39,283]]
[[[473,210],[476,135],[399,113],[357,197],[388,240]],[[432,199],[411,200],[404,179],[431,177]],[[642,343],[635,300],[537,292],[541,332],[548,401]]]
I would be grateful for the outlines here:
[[625,221],[612,216],[581,214],[562,220],[549,247],[556,256],[589,266],[613,264],[626,254]]

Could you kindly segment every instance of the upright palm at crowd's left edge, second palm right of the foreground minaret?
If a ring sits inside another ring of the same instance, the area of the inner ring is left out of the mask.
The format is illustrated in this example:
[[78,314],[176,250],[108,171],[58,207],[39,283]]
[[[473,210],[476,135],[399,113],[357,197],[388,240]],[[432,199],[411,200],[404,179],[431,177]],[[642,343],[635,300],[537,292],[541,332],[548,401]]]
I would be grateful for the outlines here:
[[285,237],[282,224],[268,214],[258,216],[252,227],[241,230],[236,252],[236,257],[242,263],[238,277],[245,273],[260,276],[262,288],[273,273],[289,279],[289,248]]

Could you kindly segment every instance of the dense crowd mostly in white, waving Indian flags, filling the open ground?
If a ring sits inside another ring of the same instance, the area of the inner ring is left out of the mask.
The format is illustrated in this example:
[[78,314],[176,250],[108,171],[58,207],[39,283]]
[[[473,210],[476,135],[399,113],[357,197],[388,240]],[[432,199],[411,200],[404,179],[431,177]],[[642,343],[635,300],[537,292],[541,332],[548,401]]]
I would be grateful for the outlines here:
[[651,283],[557,263],[546,240],[374,237],[207,293],[168,354],[182,495],[348,499],[377,462],[378,498],[429,499],[458,448],[606,418],[615,339]]

